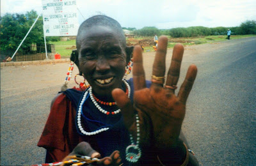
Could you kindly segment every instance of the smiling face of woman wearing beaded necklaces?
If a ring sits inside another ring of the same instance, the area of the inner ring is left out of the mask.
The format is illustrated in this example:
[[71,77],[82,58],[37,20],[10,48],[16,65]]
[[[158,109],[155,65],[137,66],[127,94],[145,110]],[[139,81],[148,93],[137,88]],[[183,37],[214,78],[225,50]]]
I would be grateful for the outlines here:
[[79,41],[79,68],[98,95],[111,95],[121,87],[125,73],[126,53],[120,37],[110,27],[93,26]]

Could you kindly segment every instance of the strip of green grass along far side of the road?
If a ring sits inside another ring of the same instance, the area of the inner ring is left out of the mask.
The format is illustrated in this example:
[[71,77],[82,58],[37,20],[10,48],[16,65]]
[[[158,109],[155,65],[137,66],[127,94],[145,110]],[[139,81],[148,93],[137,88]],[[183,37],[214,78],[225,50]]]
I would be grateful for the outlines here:
[[[256,36],[255,34],[246,34],[246,35],[231,35],[230,40],[239,39],[239,38],[250,38]],[[153,37],[145,37],[141,36],[138,38],[134,38],[134,41],[129,41],[131,44],[135,44],[136,40],[143,39],[151,39]],[[184,46],[189,45],[198,45],[204,43],[214,43],[227,40],[227,35],[218,35],[218,36],[199,36],[199,37],[191,37],[191,38],[171,38],[168,36],[168,48],[173,48],[176,43],[182,43]],[[68,41],[54,41],[50,42],[55,45],[55,50],[61,55],[61,58],[69,58],[73,49],[76,49],[76,40],[68,40]],[[152,46],[144,47],[144,52],[152,52],[155,51]]]

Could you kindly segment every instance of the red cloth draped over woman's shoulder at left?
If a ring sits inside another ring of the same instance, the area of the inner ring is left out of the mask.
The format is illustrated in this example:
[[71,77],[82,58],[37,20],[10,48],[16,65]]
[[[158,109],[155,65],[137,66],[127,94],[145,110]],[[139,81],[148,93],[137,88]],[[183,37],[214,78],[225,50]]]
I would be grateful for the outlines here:
[[[77,89],[78,90],[78,89]],[[51,112],[37,146],[44,147],[55,162],[60,162],[84,141],[74,125],[76,110],[65,94],[60,94],[52,105]],[[90,141],[93,144],[93,140]],[[95,147],[95,145],[93,146]]]

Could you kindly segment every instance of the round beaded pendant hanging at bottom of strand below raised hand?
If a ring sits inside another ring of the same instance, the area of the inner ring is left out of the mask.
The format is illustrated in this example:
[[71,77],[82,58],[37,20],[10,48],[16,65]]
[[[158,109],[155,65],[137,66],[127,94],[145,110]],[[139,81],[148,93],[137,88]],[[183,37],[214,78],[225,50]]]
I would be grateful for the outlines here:
[[125,154],[128,162],[136,163],[141,157],[141,149],[138,145],[131,144],[126,147]]

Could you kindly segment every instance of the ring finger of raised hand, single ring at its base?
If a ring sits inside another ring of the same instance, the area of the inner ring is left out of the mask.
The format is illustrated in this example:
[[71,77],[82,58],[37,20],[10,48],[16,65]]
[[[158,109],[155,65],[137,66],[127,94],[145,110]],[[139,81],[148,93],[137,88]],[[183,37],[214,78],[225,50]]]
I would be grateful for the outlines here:
[[170,64],[170,68],[168,70],[167,79],[166,79],[166,86],[174,87],[170,89],[171,92],[174,93],[175,86],[179,80],[180,76],[180,65],[182,61],[184,53],[184,47],[182,44],[176,44],[173,47],[173,54],[172,54],[172,62]]

